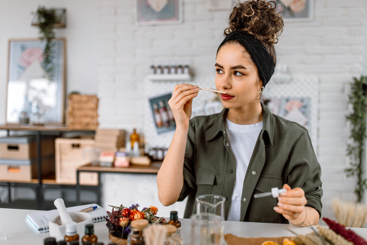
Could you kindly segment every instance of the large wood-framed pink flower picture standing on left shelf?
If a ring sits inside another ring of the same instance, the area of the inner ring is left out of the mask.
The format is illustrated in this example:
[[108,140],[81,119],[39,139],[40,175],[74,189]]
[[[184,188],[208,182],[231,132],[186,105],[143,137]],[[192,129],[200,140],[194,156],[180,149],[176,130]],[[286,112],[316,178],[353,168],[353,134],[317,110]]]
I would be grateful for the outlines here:
[[65,39],[51,42],[44,62],[45,41],[9,40],[6,123],[28,115],[35,124],[62,124],[65,97]]

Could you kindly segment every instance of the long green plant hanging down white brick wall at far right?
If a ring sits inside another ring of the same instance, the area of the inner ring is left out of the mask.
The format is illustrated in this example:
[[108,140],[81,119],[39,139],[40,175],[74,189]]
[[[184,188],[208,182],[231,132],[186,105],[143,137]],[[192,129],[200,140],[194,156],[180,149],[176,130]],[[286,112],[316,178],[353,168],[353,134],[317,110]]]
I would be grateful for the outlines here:
[[351,123],[350,138],[353,143],[348,144],[347,155],[350,156],[350,168],[345,169],[347,177],[356,178],[355,194],[357,202],[363,199],[367,188],[367,180],[364,177],[363,151],[366,140],[366,116],[367,116],[367,77],[354,78],[351,83],[349,103],[353,106],[353,112],[346,116]]

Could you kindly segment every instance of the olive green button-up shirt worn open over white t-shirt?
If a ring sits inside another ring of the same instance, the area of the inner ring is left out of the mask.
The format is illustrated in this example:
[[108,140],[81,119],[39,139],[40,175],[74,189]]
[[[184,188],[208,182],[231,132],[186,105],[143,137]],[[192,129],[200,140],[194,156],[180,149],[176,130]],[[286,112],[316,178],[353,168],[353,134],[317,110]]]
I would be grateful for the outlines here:
[[[277,198],[254,198],[271,188],[301,187],[306,206],[316,209],[321,217],[321,168],[305,127],[272,114],[261,103],[263,127],[255,144],[243,182],[241,221],[284,223],[288,220],[276,213]],[[228,216],[236,178],[236,165],[226,138],[225,116],[228,109],[210,116],[190,120],[183,166],[183,187],[178,201],[188,201],[184,218],[196,213],[195,198],[203,194],[222,195],[225,219]]]

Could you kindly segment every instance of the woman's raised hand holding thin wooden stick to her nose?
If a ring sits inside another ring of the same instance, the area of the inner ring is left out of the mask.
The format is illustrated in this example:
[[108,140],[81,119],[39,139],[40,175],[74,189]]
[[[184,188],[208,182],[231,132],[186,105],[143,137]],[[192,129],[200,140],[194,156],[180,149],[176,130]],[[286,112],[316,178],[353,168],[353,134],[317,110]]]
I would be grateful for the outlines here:
[[192,99],[197,96],[198,87],[192,84],[177,84],[175,86],[168,104],[171,107],[177,127],[189,127]]

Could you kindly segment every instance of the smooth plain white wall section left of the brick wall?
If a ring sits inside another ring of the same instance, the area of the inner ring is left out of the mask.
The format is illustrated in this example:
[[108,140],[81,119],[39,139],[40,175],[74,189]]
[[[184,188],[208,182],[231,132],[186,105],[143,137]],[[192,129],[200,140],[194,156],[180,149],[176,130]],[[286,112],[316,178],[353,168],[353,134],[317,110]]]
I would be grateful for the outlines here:
[[66,38],[66,92],[97,94],[98,77],[98,0],[0,0],[0,125],[5,123],[8,40],[39,37],[30,25],[32,11],[39,5],[63,7],[66,29],[56,29]]

